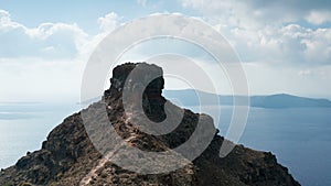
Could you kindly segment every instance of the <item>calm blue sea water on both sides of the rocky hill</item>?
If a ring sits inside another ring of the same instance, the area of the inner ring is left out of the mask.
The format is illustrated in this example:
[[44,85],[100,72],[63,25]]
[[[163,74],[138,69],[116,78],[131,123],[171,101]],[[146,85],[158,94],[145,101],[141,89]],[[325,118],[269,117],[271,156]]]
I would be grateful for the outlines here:
[[[79,106],[0,103],[0,167],[41,147],[47,133]],[[193,110],[197,110],[191,107]],[[216,109],[210,114],[215,116]],[[232,108],[223,107],[218,128],[226,133]],[[302,185],[331,185],[331,109],[252,108],[239,143],[270,151]]]

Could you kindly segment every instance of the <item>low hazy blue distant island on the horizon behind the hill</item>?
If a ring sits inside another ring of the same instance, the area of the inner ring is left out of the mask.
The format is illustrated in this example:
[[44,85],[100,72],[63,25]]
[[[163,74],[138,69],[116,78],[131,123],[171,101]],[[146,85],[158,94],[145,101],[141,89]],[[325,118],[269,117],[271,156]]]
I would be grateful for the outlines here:
[[[200,98],[197,97],[197,94]],[[193,89],[184,89],[184,90],[164,90],[164,97],[174,98],[180,101],[184,106],[197,106],[199,99],[203,100],[204,105],[217,105],[215,99],[218,98],[221,105],[224,106],[233,106],[234,97],[243,98],[243,96],[225,96],[225,95],[213,95],[205,91],[193,90]],[[274,108],[274,109],[282,109],[282,108],[306,108],[306,107],[322,107],[322,108],[331,108],[331,101],[328,99],[314,99],[314,98],[305,98],[298,97],[287,94],[278,94],[278,95],[268,95],[268,96],[250,96],[250,107],[258,108]],[[241,103],[235,103],[241,105]]]

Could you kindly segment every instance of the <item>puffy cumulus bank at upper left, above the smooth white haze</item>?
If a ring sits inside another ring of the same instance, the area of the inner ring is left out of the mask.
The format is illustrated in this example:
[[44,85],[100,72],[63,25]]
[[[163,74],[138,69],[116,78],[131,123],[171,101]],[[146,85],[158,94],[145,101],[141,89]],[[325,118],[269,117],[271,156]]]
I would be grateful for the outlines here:
[[100,17],[97,19],[99,33],[89,35],[76,23],[41,23],[36,28],[28,28],[12,20],[8,11],[0,10],[0,58],[86,56],[119,21],[115,12]]

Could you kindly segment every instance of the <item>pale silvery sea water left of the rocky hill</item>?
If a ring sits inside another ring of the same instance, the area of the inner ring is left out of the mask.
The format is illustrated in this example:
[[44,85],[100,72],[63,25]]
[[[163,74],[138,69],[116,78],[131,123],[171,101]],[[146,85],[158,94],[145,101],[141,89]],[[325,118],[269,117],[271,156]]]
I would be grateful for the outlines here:
[[76,103],[0,102],[0,168],[41,149],[49,132],[78,108]]

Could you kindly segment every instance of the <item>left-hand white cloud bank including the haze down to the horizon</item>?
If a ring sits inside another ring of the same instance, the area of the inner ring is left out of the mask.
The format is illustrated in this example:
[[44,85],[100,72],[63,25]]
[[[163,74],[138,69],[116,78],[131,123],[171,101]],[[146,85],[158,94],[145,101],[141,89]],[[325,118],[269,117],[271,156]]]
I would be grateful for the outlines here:
[[117,21],[116,13],[99,18],[103,30],[89,35],[76,23],[28,28],[0,10],[0,100],[78,101],[89,54]]

